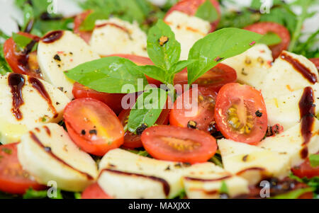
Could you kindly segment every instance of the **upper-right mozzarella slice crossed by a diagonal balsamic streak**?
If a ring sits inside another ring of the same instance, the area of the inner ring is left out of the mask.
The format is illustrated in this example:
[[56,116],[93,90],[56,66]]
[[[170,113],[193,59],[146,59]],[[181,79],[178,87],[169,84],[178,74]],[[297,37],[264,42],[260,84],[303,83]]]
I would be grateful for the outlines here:
[[313,86],[314,84],[308,81],[308,79],[298,71],[299,69],[296,69],[296,66],[293,66],[291,62],[283,59],[283,55],[294,60],[299,69],[300,67],[306,67],[308,71],[310,71],[310,74],[314,75],[318,81],[318,70],[315,64],[302,55],[284,51],[281,53],[281,56],[276,59],[272,69],[269,70],[269,74],[267,74],[264,79],[264,84],[262,84],[261,88],[264,98],[284,96],[293,91],[305,88],[306,86]]

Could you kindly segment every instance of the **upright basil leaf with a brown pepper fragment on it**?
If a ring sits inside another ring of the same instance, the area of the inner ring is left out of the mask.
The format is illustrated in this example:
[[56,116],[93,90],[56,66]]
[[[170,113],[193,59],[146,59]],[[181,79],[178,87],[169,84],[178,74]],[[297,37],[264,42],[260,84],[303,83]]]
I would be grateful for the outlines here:
[[147,53],[152,62],[159,68],[169,71],[179,62],[181,45],[169,25],[159,20],[150,28],[147,37]]

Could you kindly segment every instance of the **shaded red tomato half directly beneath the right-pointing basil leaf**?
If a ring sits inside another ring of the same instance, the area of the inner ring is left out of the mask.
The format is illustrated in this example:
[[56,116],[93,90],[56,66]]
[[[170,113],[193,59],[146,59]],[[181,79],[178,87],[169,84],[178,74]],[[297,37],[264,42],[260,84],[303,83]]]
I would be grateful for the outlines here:
[[[194,84],[198,84],[198,87],[207,87],[218,92],[223,85],[233,83],[236,80],[237,74],[235,69],[227,66],[226,64],[217,64],[216,67],[213,67],[197,79]],[[174,84],[187,84],[186,69],[175,75]]]

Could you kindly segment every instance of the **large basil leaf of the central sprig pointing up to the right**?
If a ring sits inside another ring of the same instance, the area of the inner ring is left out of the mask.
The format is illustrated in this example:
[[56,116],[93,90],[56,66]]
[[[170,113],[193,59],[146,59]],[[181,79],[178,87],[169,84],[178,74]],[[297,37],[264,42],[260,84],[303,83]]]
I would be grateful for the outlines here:
[[189,51],[189,60],[197,61],[188,69],[189,84],[215,67],[223,59],[250,49],[262,35],[238,28],[223,28],[198,40]]

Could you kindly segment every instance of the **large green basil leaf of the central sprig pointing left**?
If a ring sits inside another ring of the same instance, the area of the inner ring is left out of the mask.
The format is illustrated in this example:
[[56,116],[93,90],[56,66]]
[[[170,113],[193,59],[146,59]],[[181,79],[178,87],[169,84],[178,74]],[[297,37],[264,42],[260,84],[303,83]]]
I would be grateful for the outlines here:
[[121,57],[103,57],[86,62],[65,71],[65,74],[69,79],[104,93],[127,93],[122,91],[127,85],[133,86],[135,92],[143,91],[138,87],[138,81],[147,82],[138,65]]

